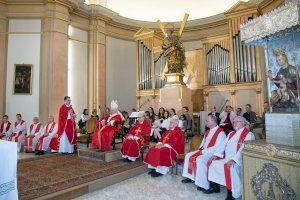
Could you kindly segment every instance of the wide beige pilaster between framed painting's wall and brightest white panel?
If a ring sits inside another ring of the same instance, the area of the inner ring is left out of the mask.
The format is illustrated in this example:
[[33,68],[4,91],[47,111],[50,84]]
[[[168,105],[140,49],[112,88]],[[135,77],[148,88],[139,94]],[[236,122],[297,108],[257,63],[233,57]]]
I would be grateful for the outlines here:
[[68,25],[69,8],[48,2],[41,36],[39,110],[42,122],[46,122],[49,115],[58,120],[59,107],[68,94]]

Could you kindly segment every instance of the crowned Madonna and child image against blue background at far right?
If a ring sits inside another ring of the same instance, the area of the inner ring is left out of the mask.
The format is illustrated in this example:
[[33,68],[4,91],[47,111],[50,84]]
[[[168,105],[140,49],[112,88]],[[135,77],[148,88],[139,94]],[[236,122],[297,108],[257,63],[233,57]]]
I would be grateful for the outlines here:
[[269,98],[272,112],[299,112],[300,32],[281,32],[268,40]]

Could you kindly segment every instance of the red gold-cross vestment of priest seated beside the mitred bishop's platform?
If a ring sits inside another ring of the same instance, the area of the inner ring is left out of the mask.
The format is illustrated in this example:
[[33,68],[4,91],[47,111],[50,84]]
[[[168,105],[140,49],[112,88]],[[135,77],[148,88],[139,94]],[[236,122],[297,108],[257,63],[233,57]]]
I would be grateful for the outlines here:
[[125,138],[121,152],[125,156],[137,158],[140,156],[140,149],[150,141],[151,125],[148,120],[143,123],[136,123],[129,131],[128,135],[136,136],[139,139]]

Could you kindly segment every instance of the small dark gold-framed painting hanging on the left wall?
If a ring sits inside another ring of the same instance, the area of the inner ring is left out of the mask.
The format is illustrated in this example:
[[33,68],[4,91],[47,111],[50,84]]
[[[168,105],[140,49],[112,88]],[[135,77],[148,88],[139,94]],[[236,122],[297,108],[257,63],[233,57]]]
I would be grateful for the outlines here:
[[32,66],[31,64],[15,64],[14,94],[31,94]]

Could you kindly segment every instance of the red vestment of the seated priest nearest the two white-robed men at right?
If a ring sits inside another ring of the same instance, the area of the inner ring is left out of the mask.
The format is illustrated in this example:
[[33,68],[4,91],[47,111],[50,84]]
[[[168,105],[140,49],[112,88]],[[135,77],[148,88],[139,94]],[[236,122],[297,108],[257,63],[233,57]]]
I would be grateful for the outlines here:
[[156,147],[151,147],[144,162],[152,167],[170,167],[177,154],[184,153],[184,134],[179,127],[176,127],[174,130],[166,131],[158,142],[168,144],[171,148],[162,147],[158,149]]

